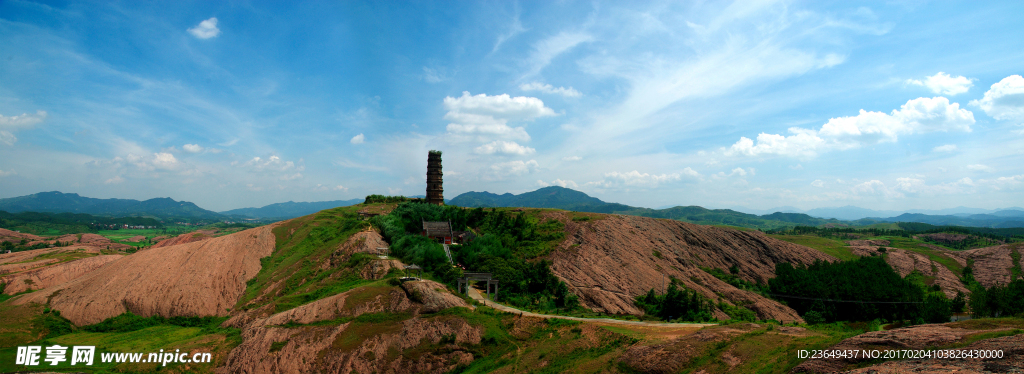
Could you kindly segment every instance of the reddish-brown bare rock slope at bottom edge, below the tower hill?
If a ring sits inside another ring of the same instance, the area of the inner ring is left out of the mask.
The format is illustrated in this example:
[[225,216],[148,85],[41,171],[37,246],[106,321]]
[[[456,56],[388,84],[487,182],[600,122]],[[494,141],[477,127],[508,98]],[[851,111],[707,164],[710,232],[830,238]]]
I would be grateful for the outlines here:
[[[430,293],[428,299],[462,299],[442,289],[440,284],[424,281],[403,288],[368,286],[324,298],[291,310],[256,320],[243,328],[244,341],[227,357],[218,372],[228,373],[444,373],[460,364],[469,364],[473,355],[458,345],[478,344],[481,328],[455,317],[422,318],[428,304],[411,298],[411,289],[420,287]],[[445,296],[446,295],[446,296]],[[430,301],[428,301],[429,303]],[[406,315],[403,321],[373,323],[348,322],[338,326],[290,326],[289,322],[311,324],[365,314]],[[447,346],[445,346],[447,344]],[[279,346],[274,346],[279,345]],[[440,345],[440,348],[437,346]],[[403,355],[410,349],[418,354]],[[395,355],[395,354],[398,355]]]

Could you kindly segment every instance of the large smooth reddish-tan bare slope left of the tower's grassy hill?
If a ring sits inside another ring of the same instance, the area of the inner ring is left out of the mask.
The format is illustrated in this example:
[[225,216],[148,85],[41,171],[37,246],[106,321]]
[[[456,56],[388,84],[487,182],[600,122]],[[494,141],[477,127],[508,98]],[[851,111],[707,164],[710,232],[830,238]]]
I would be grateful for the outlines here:
[[72,282],[12,299],[45,302],[77,325],[125,311],[150,317],[226,316],[270,255],[275,225],[177,246],[153,248]]

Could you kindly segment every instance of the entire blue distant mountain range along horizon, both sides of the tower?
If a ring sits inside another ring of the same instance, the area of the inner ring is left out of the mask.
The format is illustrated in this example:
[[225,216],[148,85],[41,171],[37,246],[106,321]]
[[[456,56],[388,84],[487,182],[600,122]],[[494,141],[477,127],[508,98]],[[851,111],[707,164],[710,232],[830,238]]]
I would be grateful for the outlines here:
[[[261,208],[242,208],[223,212],[213,212],[186,201],[170,198],[145,201],[130,199],[93,199],[78,194],[59,192],[39,193],[17,198],[0,199],[0,210],[10,213],[51,212],[86,213],[114,217],[158,217],[184,218],[191,220],[225,220],[238,218],[289,219],[312,214],[324,209],[359,204],[362,199],[334,200],[322,202],[287,202]],[[793,207],[780,207],[774,212],[767,210],[745,211],[733,209],[707,209],[699,206],[676,206],[665,209],[633,207],[618,203],[607,203],[579,191],[560,186],[547,186],[520,195],[469,192],[449,200],[449,204],[463,207],[530,207],[556,208],[582,212],[629,214],[652,218],[679,219],[700,224],[727,224],[764,230],[792,226],[794,224],[821,225],[848,224],[868,225],[889,222],[922,222],[934,225],[962,225],[975,227],[1024,227],[1024,209],[1007,208],[985,210],[976,208],[951,208],[932,210],[939,214],[918,212],[897,212],[863,209],[854,206],[839,208],[818,208],[800,211]],[[762,213],[762,214],[755,214]]]

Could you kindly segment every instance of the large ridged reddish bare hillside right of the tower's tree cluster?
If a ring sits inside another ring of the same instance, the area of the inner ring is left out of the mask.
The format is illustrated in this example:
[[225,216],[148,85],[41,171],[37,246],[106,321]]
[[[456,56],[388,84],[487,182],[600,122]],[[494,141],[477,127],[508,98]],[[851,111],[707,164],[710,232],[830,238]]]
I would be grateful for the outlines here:
[[[564,280],[587,307],[609,314],[639,315],[634,297],[650,289],[664,292],[666,278],[718,300],[743,304],[761,319],[803,321],[792,308],[737,289],[699,267],[739,267],[752,282],[774,277],[780,262],[835,261],[811,248],[743,232],[627,215],[602,215],[574,222],[567,212],[545,213],[565,224],[566,240],[550,258],[551,269]],[[718,311],[718,318],[727,318]]]

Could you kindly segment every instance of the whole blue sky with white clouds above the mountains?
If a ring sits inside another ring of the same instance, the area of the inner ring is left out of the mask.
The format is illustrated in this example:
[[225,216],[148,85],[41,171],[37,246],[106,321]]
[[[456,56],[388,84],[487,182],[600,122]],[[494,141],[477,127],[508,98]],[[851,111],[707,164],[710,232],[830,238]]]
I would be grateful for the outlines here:
[[[981,4],[981,5],[979,5]],[[0,2],[0,198],[1024,206],[1024,2]]]

